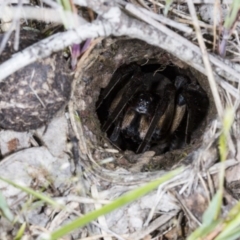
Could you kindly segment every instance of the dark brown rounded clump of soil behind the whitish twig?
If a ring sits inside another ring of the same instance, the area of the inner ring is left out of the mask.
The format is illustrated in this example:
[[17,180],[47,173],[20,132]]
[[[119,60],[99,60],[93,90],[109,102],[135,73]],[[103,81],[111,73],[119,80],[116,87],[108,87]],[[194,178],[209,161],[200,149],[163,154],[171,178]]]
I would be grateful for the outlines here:
[[[14,34],[0,55],[0,64],[16,53]],[[43,36],[22,31],[19,51]],[[0,35],[0,43],[3,35]],[[66,105],[73,75],[63,52],[52,54],[16,71],[0,83],[0,127],[28,131],[46,125]]]

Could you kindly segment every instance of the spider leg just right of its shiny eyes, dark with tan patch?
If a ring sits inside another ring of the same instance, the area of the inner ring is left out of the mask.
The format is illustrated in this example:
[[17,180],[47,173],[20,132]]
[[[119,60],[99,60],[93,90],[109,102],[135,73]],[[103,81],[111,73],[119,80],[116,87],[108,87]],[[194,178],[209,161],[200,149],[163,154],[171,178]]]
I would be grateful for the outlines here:
[[158,128],[158,134],[161,137],[164,137],[164,134],[167,133],[174,114],[174,96],[174,85],[167,84],[164,87],[162,98],[156,107],[155,115],[150,122],[148,131],[137,149],[137,153],[143,152],[148,147],[156,128]]

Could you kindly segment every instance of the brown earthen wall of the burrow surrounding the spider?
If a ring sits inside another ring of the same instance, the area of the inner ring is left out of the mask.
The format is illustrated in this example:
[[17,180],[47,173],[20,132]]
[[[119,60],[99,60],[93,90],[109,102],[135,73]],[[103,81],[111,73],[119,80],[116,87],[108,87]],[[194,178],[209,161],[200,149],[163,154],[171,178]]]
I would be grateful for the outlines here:
[[165,71],[164,73],[168,72],[170,75],[171,71],[175,72],[174,74],[184,73],[189,78],[196,78],[199,85],[207,93],[209,100],[207,115],[193,132],[191,143],[183,149],[161,155],[154,153],[146,155],[149,156],[146,161],[148,164],[144,164],[144,167],[141,168],[142,171],[170,169],[179,160],[201,146],[203,133],[210,121],[214,119],[216,109],[206,76],[162,49],[140,40],[127,38],[102,40],[82,63],[81,74],[74,90],[74,101],[83,124],[87,146],[96,162],[111,159],[110,163],[104,165],[107,168],[115,168],[120,165],[131,170],[131,166],[138,162],[140,155],[129,150],[119,150],[111,144],[106,133],[101,130],[99,116],[96,113],[96,103],[102,89],[108,85],[116,69],[123,64],[130,63],[136,63],[145,68],[155,66],[154,71]]

